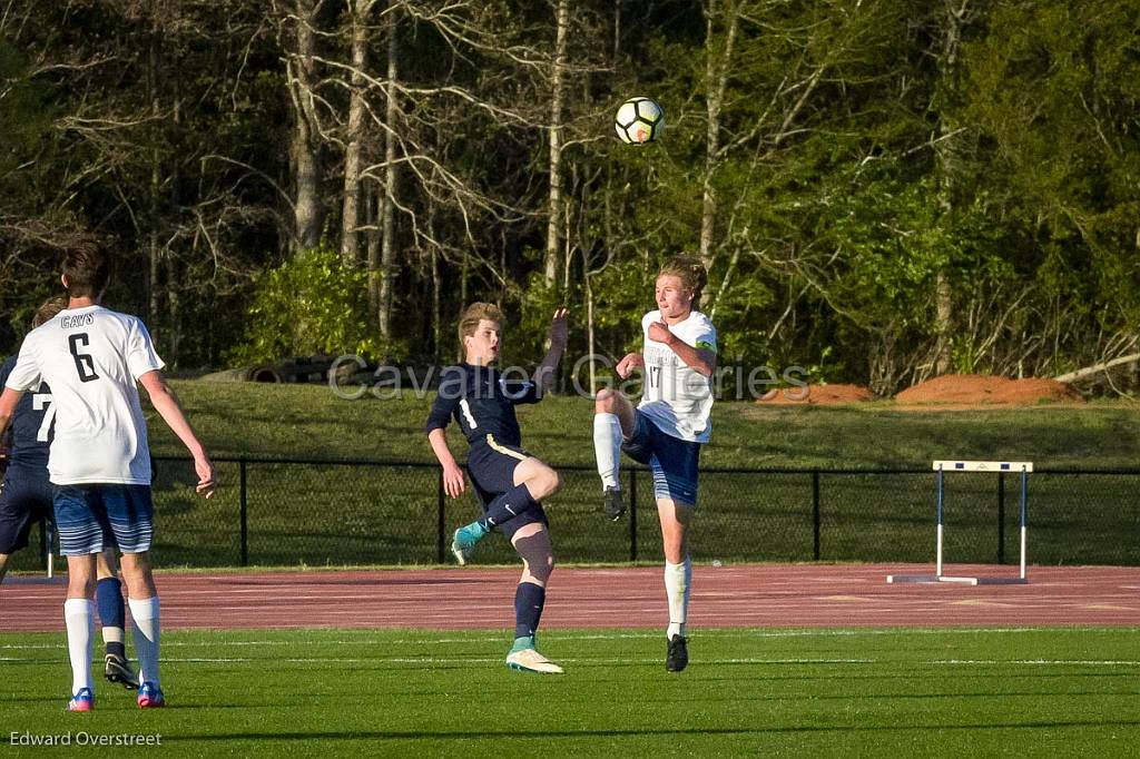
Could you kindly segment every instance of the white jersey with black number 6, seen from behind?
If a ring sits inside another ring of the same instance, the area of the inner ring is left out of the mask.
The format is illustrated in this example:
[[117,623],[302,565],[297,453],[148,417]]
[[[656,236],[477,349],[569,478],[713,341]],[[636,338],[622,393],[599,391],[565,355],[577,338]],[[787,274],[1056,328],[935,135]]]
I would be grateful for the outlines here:
[[24,338],[7,385],[25,392],[41,382],[51,386],[52,483],[150,484],[136,382],[163,366],[138,318],[101,305],[60,311]]

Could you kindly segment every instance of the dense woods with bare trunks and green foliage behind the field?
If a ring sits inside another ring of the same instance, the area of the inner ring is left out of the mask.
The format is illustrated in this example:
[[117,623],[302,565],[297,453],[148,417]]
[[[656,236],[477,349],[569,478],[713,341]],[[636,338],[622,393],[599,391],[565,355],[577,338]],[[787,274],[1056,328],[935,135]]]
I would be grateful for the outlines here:
[[[738,364],[890,393],[1140,350],[1140,0],[569,5],[560,60],[554,0],[10,3],[0,352],[76,229],[114,245],[108,302],[182,367],[446,361],[475,299],[521,356],[557,303],[571,354],[620,356],[681,251]],[[614,138],[634,93],[665,106],[659,144]],[[302,217],[345,271],[304,288],[333,318],[285,324]]]

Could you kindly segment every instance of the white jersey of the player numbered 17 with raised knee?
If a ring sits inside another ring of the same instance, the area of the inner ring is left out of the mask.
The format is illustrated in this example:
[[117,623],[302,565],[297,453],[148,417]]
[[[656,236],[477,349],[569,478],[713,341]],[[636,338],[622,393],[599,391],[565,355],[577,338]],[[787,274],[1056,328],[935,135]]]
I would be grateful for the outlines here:
[[[661,432],[693,442],[707,443],[712,434],[712,382],[681,360],[668,345],[649,338],[649,326],[661,320],[660,311],[642,317],[645,336],[645,391],[637,408]],[[669,330],[699,350],[716,352],[716,327],[700,311],[690,311]]]

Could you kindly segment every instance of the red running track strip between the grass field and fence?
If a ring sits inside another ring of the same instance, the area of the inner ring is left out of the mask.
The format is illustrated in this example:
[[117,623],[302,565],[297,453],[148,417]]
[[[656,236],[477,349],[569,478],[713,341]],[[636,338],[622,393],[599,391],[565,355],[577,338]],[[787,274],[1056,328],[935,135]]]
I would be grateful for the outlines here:
[[[1140,626],[1140,569],[1029,568],[1028,585],[888,585],[928,565],[730,565],[693,568],[694,627]],[[1009,574],[955,566],[953,573]],[[1015,570],[1016,571],[1016,570]],[[947,573],[950,573],[947,571]],[[162,573],[165,629],[514,625],[519,570]],[[9,578],[0,631],[63,629],[64,588]],[[555,571],[543,626],[653,628],[668,620],[661,569]]]

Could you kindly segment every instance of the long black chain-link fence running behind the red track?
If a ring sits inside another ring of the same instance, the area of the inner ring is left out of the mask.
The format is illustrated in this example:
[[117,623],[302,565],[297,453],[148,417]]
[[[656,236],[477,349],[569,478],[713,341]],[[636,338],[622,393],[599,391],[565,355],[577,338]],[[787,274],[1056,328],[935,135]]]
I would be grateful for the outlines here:
[[[455,528],[480,511],[470,483],[443,495],[440,468],[413,462],[217,459],[222,487],[195,495],[189,459],[155,459],[156,566],[432,564],[451,561]],[[592,467],[560,466],[545,508],[563,562],[660,561],[650,473],[622,473],[630,511],[601,512]],[[1028,478],[1031,564],[1140,564],[1140,470],[1051,471]],[[1020,476],[947,473],[945,561],[1018,562]],[[42,536],[42,527],[41,527]],[[33,537],[33,545],[34,537]],[[935,473],[929,470],[702,468],[691,532],[694,561],[934,562]],[[14,570],[43,566],[41,550]],[[488,539],[480,564],[510,564]]]

